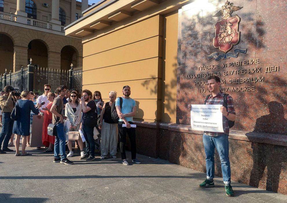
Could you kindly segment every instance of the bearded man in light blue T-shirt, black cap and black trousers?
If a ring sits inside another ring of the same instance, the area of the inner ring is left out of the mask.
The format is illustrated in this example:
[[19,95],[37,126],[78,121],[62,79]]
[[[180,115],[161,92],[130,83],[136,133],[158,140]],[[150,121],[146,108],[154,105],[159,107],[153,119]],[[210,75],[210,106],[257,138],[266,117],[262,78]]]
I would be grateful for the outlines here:
[[[135,100],[130,98],[130,87],[128,85],[123,87],[123,96],[122,96],[122,108],[120,106],[120,98],[118,97],[116,99],[116,109],[117,109],[117,115],[119,116],[119,138],[120,138],[120,150],[122,155],[122,163],[124,165],[128,165],[128,161],[126,159],[126,151],[125,151],[125,145],[126,145],[126,134],[128,133],[128,137],[130,139],[130,148],[131,148],[131,154],[132,154],[132,161],[134,163],[140,164],[141,162],[136,159],[136,142],[135,142],[135,128],[131,128],[131,124],[133,124],[133,116],[135,116],[135,112],[137,110],[137,105],[135,103]],[[126,125],[126,127],[123,127],[123,124]]]

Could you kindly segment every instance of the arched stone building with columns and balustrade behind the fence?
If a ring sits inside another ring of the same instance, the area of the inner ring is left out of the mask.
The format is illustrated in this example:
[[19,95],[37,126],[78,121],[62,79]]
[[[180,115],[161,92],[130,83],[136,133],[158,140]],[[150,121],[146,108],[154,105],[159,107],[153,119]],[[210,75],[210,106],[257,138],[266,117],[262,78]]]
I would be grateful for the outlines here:
[[68,70],[82,66],[82,43],[64,27],[82,17],[88,1],[1,0],[0,73],[26,67]]

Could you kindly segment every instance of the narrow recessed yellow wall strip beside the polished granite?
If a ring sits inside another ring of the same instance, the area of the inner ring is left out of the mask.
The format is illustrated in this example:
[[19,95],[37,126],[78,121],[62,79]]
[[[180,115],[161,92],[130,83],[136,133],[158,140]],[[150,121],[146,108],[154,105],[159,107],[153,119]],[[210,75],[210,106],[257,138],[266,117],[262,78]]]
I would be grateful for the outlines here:
[[176,123],[178,12],[166,14],[163,22],[162,122]]

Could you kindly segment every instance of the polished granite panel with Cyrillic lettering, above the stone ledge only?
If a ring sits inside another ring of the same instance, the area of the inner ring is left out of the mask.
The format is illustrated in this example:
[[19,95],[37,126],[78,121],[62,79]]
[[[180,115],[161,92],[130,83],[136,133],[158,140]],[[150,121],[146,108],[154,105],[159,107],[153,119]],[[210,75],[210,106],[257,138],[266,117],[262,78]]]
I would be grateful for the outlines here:
[[[240,42],[228,53],[247,50],[237,58],[217,61],[207,56],[223,53],[213,46],[214,25],[222,16],[212,16],[226,1],[200,2],[179,11],[177,123],[190,125],[187,104],[203,103],[209,94],[203,83],[208,77],[205,73],[215,73],[222,79],[222,90],[234,100],[237,119],[233,129],[287,134],[286,1],[231,0],[243,8],[232,13],[241,18]],[[207,67],[216,65],[215,69]]]

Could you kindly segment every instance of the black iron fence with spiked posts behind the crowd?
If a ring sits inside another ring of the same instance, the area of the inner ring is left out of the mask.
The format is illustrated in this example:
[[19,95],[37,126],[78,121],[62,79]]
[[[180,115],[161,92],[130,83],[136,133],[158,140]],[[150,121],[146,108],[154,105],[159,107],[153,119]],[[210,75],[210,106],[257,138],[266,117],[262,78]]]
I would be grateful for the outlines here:
[[71,67],[69,71],[64,71],[28,65],[15,72],[7,73],[5,70],[5,73],[0,76],[0,89],[3,90],[6,85],[11,85],[19,88],[20,91],[30,90],[41,94],[44,91],[44,84],[50,84],[52,91],[60,85],[66,85],[69,89],[77,88],[81,92],[82,75],[82,67]]

